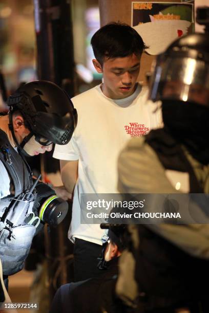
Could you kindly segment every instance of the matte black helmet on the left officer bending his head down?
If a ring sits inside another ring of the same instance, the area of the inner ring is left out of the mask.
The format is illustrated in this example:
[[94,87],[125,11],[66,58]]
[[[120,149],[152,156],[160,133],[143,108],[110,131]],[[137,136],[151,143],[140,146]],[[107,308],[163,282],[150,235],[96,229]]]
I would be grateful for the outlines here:
[[7,105],[10,108],[10,127],[12,113],[18,110],[31,131],[20,145],[22,147],[33,135],[41,145],[65,145],[77,125],[77,111],[69,96],[50,81],[36,80],[20,86],[8,98]]

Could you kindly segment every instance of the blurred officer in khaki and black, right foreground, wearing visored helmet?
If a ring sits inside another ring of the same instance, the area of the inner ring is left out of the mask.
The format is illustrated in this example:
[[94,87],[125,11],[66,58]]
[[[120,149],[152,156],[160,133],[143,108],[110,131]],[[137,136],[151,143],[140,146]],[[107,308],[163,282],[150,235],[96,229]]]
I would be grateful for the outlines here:
[[[157,58],[149,98],[161,101],[164,127],[131,140],[122,151],[121,193],[208,194],[208,51],[208,33],[194,33],[174,41]],[[194,203],[199,212],[204,205],[208,208],[208,197],[202,200],[202,204]],[[207,219],[205,213],[205,222]],[[208,224],[135,225],[131,231],[132,257],[121,259],[116,285],[119,297],[126,303],[128,298],[129,303],[138,299],[143,303],[140,312],[208,312]],[[134,276],[122,267],[132,259],[136,262]],[[138,290],[130,292],[119,285],[127,273],[130,280],[135,277],[129,286],[137,283]]]

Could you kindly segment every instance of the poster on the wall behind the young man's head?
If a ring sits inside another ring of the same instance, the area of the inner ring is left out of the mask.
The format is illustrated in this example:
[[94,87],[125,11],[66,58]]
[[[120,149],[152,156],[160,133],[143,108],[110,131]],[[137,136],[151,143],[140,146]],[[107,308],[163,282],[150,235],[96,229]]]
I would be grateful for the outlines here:
[[151,55],[194,31],[194,0],[182,3],[132,2],[132,27],[140,34]]

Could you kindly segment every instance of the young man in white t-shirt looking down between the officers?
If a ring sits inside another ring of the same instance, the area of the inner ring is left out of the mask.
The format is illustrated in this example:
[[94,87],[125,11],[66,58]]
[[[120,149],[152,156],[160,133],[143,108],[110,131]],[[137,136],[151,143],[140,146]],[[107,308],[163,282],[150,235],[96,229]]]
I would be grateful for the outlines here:
[[131,137],[159,125],[159,114],[147,103],[147,90],[137,83],[144,43],[130,26],[111,23],[92,37],[93,64],[103,83],[72,99],[78,124],[70,143],[55,146],[65,188],[72,193],[69,238],[74,246],[75,281],[98,274],[99,225],[81,224],[81,193],[117,193],[117,159]]

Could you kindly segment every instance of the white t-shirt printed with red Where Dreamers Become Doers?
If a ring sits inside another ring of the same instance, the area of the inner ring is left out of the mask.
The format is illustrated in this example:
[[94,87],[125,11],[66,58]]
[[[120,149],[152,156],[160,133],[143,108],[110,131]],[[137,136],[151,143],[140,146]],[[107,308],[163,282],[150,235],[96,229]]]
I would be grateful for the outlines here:
[[72,98],[77,127],[71,141],[56,145],[53,154],[59,160],[79,160],[69,238],[97,244],[101,244],[103,230],[99,225],[80,224],[80,194],[118,193],[119,152],[130,138],[145,135],[161,124],[160,110],[147,101],[147,88],[138,84],[131,96],[113,100],[100,86]]

